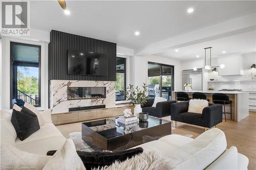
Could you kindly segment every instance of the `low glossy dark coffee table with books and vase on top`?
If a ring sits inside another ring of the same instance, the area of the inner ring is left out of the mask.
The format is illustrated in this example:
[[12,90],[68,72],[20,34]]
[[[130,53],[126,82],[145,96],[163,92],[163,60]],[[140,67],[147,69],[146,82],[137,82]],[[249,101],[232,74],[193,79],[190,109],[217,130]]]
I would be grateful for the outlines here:
[[95,151],[115,151],[136,147],[172,134],[172,123],[153,116],[133,126],[117,123],[118,117],[82,123],[82,139]]

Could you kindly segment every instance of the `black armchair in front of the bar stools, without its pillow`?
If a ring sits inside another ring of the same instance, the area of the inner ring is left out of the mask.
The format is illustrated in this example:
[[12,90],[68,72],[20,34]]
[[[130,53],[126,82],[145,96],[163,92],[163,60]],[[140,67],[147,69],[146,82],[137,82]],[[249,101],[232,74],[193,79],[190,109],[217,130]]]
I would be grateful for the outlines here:
[[199,113],[188,112],[189,101],[174,103],[170,107],[170,119],[191,125],[211,128],[222,122],[222,105],[209,104]]

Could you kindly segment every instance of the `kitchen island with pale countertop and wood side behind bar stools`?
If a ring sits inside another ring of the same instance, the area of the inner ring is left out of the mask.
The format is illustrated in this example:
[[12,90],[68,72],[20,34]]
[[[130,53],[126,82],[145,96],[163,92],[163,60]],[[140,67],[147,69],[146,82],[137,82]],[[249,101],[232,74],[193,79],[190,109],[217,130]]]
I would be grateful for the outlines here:
[[[178,91],[173,91],[173,100],[176,99],[176,93]],[[189,98],[192,98],[192,94],[194,92],[202,92],[206,95],[207,99],[212,103],[212,94],[214,93],[224,93],[229,96],[229,100],[232,101],[232,120],[239,122],[243,118],[249,115],[249,92],[247,91],[217,91],[217,90],[192,90],[192,91],[184,91],[188,94]],[[230,112],[230,105],[226,106],[226,112]],[[230,119],[230,114],[226,114],[227,119]]]

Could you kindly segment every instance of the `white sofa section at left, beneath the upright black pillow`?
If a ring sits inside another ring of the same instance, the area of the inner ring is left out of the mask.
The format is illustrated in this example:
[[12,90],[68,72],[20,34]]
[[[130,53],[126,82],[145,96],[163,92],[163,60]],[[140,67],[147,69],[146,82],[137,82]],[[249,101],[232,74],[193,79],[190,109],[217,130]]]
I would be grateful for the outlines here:
[[52,124],[51,110],[40,112],[45,124],[40,129],[21,141],[11,123],[12,110],[1,110],[1,144],[11,144],[13,147],[38,155],[46,155],[50,150],[58,150],[66,142],[66,138]]

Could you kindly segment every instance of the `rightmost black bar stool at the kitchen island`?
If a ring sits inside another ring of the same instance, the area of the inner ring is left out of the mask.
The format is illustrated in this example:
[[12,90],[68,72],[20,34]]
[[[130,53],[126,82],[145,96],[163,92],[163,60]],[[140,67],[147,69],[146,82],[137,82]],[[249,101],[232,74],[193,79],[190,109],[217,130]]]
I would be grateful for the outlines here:
[[223,114],[225,114],[225,122],[226,121],[226,108],[225,105],[229,105],[230,104],[230,119],[232,119],[232,101],[229,100],[229,97],[227,94],[223,94],[223,93],[214,93],[212,94],[212,103],[214,104],[222,104],[224,106],[224,112],[222,112]]

